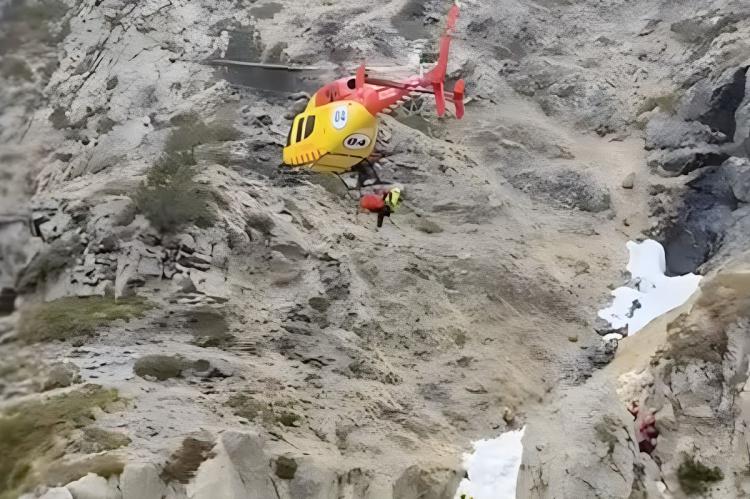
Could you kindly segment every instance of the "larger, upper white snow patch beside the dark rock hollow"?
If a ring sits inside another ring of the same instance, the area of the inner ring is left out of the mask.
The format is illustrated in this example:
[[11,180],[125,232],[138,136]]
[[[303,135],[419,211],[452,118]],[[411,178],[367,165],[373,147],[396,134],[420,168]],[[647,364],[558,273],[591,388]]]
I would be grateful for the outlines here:
[[612,305],[599,311],[599,317],[615,329],[625,326],[628,335],[643,329],[649,322],[685,303],[700,284],[701,276],[686,274],[667,277],[667,260],[661,244],[651,239],[642,243],[629,241],[630,261],[627,286],[612,292]]

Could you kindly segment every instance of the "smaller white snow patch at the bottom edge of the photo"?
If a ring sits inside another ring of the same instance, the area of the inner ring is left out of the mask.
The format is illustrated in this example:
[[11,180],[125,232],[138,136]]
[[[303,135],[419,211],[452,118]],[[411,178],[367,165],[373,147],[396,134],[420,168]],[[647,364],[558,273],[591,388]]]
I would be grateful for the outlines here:
[[474,452],[464,454],[469,477],[461,480],[454,499],[514,499],[525,429],[474,442]]

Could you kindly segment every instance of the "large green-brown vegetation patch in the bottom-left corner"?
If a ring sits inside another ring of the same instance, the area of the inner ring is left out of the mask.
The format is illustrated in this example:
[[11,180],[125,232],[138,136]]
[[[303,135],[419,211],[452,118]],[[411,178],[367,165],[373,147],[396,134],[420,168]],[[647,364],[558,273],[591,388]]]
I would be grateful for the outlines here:
[[39,482],[35,463],[59,457],[56,445],[93,421],[92,409],[118,400],[117,391],[98,385],[41,400],[22,402],[0,413],[0,498],[17,497]]

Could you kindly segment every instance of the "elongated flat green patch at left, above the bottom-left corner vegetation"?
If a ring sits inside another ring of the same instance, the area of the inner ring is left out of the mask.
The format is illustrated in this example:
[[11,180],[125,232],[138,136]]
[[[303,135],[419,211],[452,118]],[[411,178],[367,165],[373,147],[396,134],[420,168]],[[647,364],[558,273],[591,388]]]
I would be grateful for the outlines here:
[[118,319],[142,317],[152,304],[140,297],[68,297],[21,311],[18,336],[27,343],[87,337]]

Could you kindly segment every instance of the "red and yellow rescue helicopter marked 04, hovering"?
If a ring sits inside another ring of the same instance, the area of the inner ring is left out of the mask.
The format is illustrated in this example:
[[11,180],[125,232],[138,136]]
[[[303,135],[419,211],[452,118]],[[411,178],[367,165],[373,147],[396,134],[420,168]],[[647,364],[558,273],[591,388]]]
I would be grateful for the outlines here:
[[446,101],[455,106],[456,118],[464,114],[464,81],[452,92],[445,91],[448,51],[458,18],[458,5],[448,13],[435,67],[428,73],[403,81],[370,78],[362,64],[354,76],[322,87],[310,98],[305,110],[292,122],[284,165],[312,172],[342,174],[367,162],[378,134],[378,117],[416,94],[433,94],[438,116],[445,114]]

